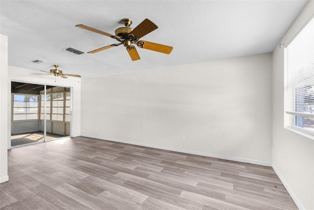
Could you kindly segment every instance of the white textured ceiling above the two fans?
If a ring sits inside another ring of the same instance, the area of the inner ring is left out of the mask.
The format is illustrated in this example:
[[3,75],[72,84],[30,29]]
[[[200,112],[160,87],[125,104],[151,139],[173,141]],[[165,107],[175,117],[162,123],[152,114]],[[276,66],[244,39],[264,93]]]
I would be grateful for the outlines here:
[[[148,70],[272,52],[307,0],[0,0],[0,33],[8,36],[10,66],[82,77]],[[114,34],[131,18],[145,18],[157,30],[141,40],[172,46],[170,55],[137,48],[131,61],[125,47],[77,55],[118,43],[75,27],[85,24]],[[32,60],[44,63],[34,64]]]

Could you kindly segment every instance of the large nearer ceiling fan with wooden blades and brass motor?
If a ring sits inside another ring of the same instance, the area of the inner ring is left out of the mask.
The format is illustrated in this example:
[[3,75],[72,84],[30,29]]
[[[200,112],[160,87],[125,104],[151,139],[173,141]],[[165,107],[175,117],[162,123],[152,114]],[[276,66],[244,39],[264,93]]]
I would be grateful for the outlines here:
[[125,27],[120,27],[116,29],[115,35],[112,35],[107,32],[104,32],[104,31],[101,31],[101,30],[98,30],[98,29],[95,29],[86,25],[82,25],[82,24],[76,25],[76,27],[89,30],[95,33],[103,34],[105,36],[111,37],[117,40],[118,42],[120,42],[120,43],[112,44],[106,47],[101,47],[101,48],[89,51],[87,53],[99,52],[99,51],[102,51],[111,47],[117,47],[122,44],[124,47],[127,48],[127,51],[132,61],[136,61],[140,59],[139,54],[136,48],[134,47],[134,45],[137,45],[137,47],[139,48],[150,49],[150,50],[154,50],[154,51],[162,52],[166,54],[171,53],[173,47],[139,40],[141,37],[145,36],[146,34],[158,28],[158,26],[152,21],[145,19],[142,23],[139,23],[139,25],[137,25],[135,28],[130,27],[132,24],[132,20],[129,18],[123,19],[122,23],[125,25]]

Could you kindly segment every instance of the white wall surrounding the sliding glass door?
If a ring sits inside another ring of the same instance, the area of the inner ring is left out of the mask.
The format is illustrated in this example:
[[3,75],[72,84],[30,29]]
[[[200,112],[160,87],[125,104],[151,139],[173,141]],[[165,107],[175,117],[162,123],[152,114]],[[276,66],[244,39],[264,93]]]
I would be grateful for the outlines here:
[[[40,65],[40,64],[34,64]],[[34,84],[46,84],[55,85],[61,87],[73,87],[72,94],[72,137],[80,136],[80,78],[68,77],[67,79],[57,77],[54,81],[54,76],[52,75],[33,75],[30,73],[40,73],[36,70],[23,69],[18,67],[9,66],[8,67],[8,82],[11,86],[11,81],[22,81],[26,83]],[[11,95],[11,89],[9,90],[9,95]],[[9,104],[9,110],[11,110],[11,104]],[[11,116],[9,116],[8,129],[11,131]],[[8,139],[8,146],[11,145],[11,139]]]

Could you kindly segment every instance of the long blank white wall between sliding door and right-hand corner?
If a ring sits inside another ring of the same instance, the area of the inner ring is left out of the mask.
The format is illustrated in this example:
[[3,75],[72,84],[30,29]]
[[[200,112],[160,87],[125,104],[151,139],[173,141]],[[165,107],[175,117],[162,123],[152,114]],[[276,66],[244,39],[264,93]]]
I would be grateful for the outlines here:
[[271,165],[271,68],[269,53],[82,79],[82,136]]

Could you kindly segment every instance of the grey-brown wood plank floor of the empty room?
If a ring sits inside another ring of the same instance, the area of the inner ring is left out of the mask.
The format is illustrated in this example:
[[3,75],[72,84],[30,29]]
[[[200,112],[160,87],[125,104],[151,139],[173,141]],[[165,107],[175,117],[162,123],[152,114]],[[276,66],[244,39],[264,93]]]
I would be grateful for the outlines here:
[[85,137],[8,152],[1,210],[294,210],[271,167]]

